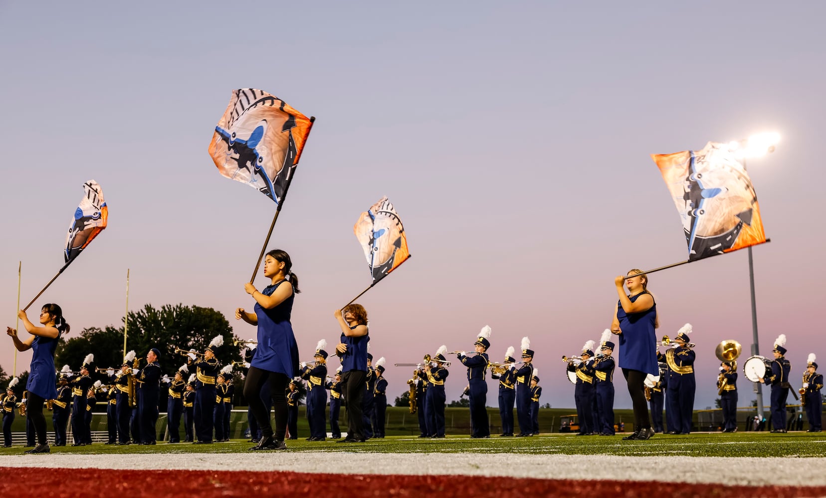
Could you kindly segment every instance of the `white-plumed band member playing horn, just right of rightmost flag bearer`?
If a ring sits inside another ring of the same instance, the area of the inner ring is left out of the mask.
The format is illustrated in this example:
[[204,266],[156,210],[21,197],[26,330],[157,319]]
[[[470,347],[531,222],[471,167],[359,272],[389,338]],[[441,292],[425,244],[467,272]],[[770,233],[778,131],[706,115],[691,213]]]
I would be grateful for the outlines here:
[[665,355],[657,353],[657,361],[665,360],[668,366],[666,412],[668,425],[673,429],[668,434],[691,434],[697,388],[694,378],[695,353],[688,345],[691,331],[691,323],[686,323],[674,337],[674,346],[666,350]]

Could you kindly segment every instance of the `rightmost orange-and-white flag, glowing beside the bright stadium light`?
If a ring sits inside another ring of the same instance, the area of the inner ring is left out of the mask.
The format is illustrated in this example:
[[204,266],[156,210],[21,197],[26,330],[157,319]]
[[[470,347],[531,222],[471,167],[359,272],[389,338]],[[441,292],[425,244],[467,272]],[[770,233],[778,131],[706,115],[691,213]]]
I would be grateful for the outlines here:
[[729,144],[651,157],[682,219],[688,261],[766,242],[754,186]]

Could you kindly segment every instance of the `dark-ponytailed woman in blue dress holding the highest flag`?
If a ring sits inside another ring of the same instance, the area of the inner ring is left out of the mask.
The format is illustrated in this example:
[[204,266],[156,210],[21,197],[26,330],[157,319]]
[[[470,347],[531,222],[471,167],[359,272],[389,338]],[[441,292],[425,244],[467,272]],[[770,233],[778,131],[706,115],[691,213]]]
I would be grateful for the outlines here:
[[[263,260],[263,276],[271,284],[259,291],[252,283],[244,284],[244,290],[255,299],[255,312],[244,308],[235,310],[235,319],[258,326],[258,348],[244,381],[244,397],[249,402],[255,420],[261,428],[259,444],[250,448],[287,449],[284,435],[287,432],[287,383],[298,375],[298,345],[292,332],[290,313],[292,300],[298,290],[298,277],[292,273],[292,261],[287,252],[280,249],[269,251]],[[289,278],[289,280],[287,280]],[[261,388],[269,383],[275,409],[275,431],[270,425],[268,409],[261,399]]]

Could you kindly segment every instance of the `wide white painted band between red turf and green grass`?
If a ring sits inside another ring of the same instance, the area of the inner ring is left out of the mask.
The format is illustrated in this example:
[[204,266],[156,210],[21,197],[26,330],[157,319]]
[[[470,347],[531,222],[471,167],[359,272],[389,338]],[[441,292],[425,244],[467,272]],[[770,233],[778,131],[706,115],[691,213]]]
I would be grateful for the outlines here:
[[[671,482],[714,483],[743,486],[826,486],[826,458],[752,458],[615,455],[532,455],[517,453],[411,453],[268,452],[268,453],[165,453],[83,455],[12,455],[0,458],[0,467],[62,467],[130,470],[225,470],[252,472],[311,472],[380,475],[466,475],[532,477],[539,479],[602,479],[662,481],[663,468]],[[650,454],[650,453],[649,453]],[[501,457],[491,460],[491,456]],[[492,464],[496,462],[496,464]],[[723,463],[724,464],[721,464]],[[771,468],[771,472],[765,469]]]

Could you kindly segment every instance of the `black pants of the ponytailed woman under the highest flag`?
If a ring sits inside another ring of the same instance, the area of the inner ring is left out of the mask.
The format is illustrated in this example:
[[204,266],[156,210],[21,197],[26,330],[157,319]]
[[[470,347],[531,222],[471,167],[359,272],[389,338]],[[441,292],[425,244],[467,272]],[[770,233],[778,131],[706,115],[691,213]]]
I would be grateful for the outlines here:
[[[244,397],[253,411],[255,421],[261,428],[263,437],[273,436],[278,441],[284,440],[287,432],[287,383],[289,379],[285,374],[269,372],[255,367],[249,367],[247,378],[244,380]],[[275,411],[275,431],[269,423],[269,413],[267,406],[261,399],[261,388],[264,383],[269,383],[269,392],[273,397],[273,409]]]

